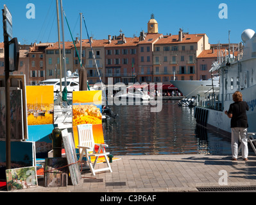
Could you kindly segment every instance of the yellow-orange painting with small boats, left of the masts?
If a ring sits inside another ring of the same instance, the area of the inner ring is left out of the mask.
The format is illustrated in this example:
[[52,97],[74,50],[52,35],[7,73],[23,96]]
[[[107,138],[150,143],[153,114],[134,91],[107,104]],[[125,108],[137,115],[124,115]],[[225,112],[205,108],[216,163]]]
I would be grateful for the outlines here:
[[53,86],[26,86],[28,126],[53,124]]

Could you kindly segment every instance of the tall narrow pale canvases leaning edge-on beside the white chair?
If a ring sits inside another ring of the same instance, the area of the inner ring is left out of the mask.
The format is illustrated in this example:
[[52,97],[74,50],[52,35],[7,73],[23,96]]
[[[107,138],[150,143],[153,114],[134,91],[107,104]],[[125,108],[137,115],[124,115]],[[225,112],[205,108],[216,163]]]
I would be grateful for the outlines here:
[[78,163],[76,163],[78,161],[78,157],[76,155],[76,148],[74,147],[74,139],[72,133],[68,133],[67,129],[64,129],[62,131],[62,140],[64,143],[67,163],[69,164],[71,181],[73,185],[76,185],[81,179],[81,172]]

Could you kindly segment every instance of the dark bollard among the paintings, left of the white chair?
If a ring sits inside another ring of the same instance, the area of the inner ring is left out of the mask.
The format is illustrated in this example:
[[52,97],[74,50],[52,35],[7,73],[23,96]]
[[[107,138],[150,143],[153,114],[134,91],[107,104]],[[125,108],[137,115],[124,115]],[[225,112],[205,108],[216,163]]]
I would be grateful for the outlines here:
[[53,157],[62,157],[62,131],[55,127],[51,133],[51,140],[53,145]]

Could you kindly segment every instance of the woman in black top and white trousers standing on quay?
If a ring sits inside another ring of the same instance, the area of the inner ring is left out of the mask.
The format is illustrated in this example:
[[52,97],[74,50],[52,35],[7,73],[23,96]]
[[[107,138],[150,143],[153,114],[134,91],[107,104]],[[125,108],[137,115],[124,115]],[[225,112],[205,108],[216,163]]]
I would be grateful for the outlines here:
[[234,103],[230,104],[229,110],[225,114],[231,118],[231,147],[232,147],[232,160],[237,160],[237,149],[239,135],[241,136],[242,144],[242,157],[244,161],[248,160],[248,144],[247,144],[247,115],[246,110],[249,110],[247,102],[244,102],[241,92],[236,91],[233,95]]

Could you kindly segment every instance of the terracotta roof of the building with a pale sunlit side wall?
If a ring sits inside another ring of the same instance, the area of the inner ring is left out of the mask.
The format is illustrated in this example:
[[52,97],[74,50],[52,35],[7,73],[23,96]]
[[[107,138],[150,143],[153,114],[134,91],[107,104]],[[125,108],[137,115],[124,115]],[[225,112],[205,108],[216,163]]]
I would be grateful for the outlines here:
[[178,41],[178,35],[164,36],[164,38],[159,39],[155,44],[189,44],[196,43],[205,34],[183,34],[182,41]]

